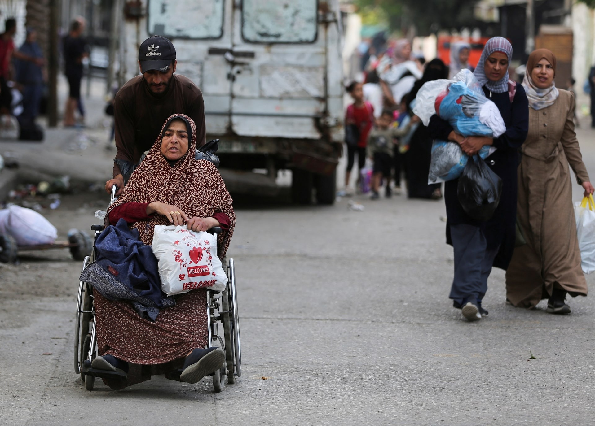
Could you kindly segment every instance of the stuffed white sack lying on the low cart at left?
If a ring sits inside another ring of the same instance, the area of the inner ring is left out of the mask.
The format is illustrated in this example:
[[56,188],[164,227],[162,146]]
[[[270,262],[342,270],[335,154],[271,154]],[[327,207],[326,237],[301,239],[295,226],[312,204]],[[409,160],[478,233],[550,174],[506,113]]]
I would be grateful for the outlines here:
[[58,236],[58,231],[48,219],[35,210],[20,206],[8,207],[4,228],[17,245],[54,244]]

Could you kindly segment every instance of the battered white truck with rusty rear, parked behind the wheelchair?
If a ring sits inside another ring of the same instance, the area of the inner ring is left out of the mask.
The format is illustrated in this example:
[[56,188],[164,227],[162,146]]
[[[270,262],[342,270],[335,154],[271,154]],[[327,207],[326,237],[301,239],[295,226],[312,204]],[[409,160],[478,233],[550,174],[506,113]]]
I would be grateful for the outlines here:
[[205,100],[207,140],[230,191],[274,195],[292,170],[297,203],[331,204],[343,142],[338,0],[136,0],[124,5],[121,72],[147,37],[176,47],[177,74]]

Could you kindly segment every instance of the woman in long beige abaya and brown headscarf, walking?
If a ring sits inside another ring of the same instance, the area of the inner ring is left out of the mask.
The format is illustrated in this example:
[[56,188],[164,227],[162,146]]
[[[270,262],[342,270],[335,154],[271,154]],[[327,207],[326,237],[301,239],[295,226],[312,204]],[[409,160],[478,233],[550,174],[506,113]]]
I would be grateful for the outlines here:
[[529,132],[518,168],[517,203],[518,231],[526,244],[515,248],[506,270],[506,299],[525,308],[548,299],[547,312],[569,314],[566,295],[586,296],[587,283],[568,165],[585,195],[593,194],[593,185],[574,132],[574,95],[556,89],[555,74],[552,52],[531,53],[522,83],[529,100]]

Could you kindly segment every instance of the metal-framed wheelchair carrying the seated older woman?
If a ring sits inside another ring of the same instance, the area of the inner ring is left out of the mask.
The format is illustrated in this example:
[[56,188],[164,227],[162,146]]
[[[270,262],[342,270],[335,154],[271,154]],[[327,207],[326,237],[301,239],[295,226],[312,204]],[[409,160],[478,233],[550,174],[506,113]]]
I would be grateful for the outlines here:
[[[117,198],[115,197],[115,185],[112,188],[112,197],[109,203],[111,206]],[[95,261],[95,241],[99,234],[104,231],[104,225],[93,225],[91,230],[95,232],[93,239],[93,250],[83,260],[84,270],[89,263]],[[207,232],[219,233],[221,228],[212,228]],[[208,321],[208,347],[218,346],[225,352],[226,365],[219,371],[212,374],[213,388],[215,392],[221,392],[225,384],[236,383],[236,377],[242,375],[242,356],[240,352],[240,324],[237,313],[236,293],[236,270],[233,258],[221,258],[221,263],[226,265],[228,277],[227,287],[223,292],[206,291],[206,318]],[[220,325],[221,329],[220,330]],[[79,296],[77,298],[77,311],[75,321],[75,342],[74,342],[74,372],[80,374],[84,381],[86,390],[93,390],[95,378],[101,374],[91,368],[93,358],[97,353],[97,336],[95,329],[95,309],[93,308],[93,288],[89,283],[79,281]],[[223,331],[223,335],[221,334]],[[173,371],[166,377],[172,380],[180,380],[181,370]]]

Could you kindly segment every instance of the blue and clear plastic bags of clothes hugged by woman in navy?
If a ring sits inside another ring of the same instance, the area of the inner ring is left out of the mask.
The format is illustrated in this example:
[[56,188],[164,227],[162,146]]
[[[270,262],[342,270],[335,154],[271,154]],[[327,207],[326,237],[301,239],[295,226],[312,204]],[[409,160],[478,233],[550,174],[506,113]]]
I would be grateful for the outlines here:
[[[445,119],[459,134],[499,137],[506,126],[496,107],[487,99],[469,70],[461,70],[454,80],[428,81],[419,89],[413,111],[424,125],[434,114]],[[484,146],[478,155],[484,159],[496,149]],[[468,160],[459,144],[436,140],[432,146],[428,184],[459,178]]]

